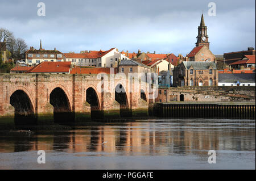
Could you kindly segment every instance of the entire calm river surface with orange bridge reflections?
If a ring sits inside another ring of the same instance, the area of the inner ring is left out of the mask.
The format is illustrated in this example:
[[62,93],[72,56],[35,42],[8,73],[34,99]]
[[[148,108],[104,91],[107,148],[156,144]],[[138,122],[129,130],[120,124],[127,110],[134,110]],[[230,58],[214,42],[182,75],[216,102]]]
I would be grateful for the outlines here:
[[255,121],[151,119],[0,137],[0,169],[255,169]]

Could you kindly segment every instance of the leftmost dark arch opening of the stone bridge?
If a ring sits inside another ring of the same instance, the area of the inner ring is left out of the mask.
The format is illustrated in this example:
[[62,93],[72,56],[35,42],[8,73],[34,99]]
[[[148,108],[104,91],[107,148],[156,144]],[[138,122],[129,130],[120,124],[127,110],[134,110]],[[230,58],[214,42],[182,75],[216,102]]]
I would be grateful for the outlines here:
[[16,90],[10,96],[10,104],[14,107],[15,125],[36,125],[34,106],[24,90]]

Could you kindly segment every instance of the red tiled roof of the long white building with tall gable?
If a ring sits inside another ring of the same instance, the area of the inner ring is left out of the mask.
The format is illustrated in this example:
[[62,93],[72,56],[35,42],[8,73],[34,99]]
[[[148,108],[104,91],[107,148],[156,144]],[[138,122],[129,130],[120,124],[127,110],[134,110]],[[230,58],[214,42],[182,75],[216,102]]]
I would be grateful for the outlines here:
[[109,49],[107,51],[90,51],[88,53],[64,53],[66,58],[100,58],[105,56],[105,54],[111,52],[113,49]]

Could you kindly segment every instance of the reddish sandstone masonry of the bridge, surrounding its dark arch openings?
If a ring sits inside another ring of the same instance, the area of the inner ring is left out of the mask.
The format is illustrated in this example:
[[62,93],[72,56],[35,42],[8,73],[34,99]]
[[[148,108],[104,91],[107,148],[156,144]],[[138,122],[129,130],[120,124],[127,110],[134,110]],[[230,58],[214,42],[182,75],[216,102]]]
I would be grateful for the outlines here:
[[[114,91],[104,92],[104,94],[98,92],[97,85],[100,82],[101,79],[97,79],[96,74],[0,74],[0,116],[13,115],[14,110],[8,107],[11,106],[10,96],[16,90],[26,92],[28,98],[31,100],[35,113],[53,113],[53,108],[49,104],[49,95],[56,87],[63,89],[73,112],[88,111],[83,105],[86,102],[86,90],[89,87],[92,87],[96,91],[100,109],[102,111],[112,110],[114,109],[115,93]],[[129,107],[133,110],[140,108],[138,100],[141,99],[141,83],[139,83],[139,92],[131,92],[131,94],[127,79],[121,80],[115,78],[114,87],[118,83],[125,86]],[[104,85],[110,91],[109,82],[105,81]],[[147,91],[146,96],[148,103]],[[102,100],[104,101],[102,102]]]

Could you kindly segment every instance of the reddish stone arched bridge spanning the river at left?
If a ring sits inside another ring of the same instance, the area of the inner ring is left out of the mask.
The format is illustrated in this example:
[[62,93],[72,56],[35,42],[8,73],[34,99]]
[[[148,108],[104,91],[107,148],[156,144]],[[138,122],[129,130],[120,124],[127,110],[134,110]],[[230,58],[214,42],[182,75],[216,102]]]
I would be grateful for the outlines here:
[[114,74],[0,74],[0,117],[30,125],[142,116],[150,89]]

